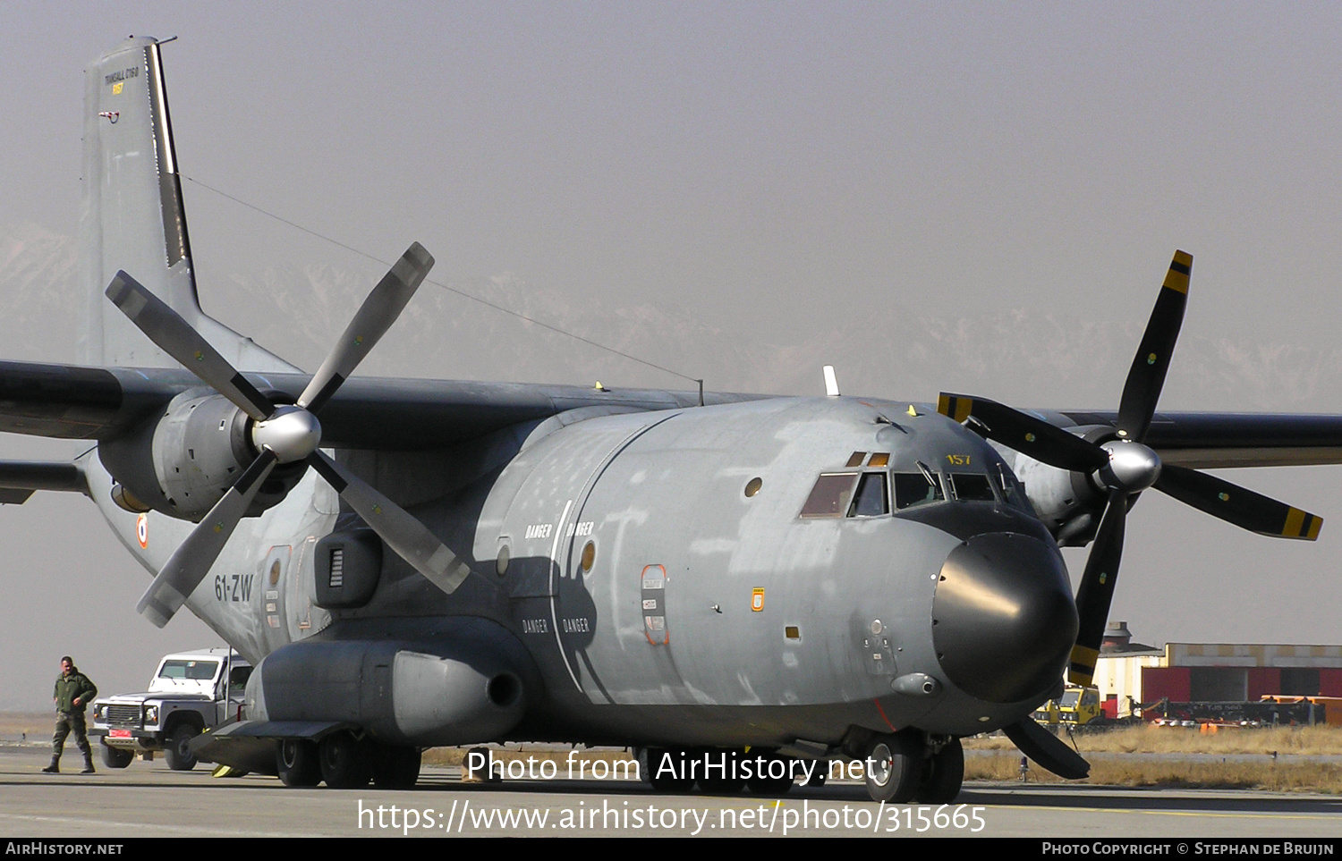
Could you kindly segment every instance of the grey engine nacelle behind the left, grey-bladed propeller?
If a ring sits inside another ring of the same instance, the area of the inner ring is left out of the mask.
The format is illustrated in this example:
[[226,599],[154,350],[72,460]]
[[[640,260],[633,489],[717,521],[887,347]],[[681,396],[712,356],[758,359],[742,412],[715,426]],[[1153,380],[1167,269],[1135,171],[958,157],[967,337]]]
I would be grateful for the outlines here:
[[[215,392],[192,389],[178,394],[157,420],[98,447],[98,456],[117,480],[117,504],[200,520],[256,459],[250,422],[244,412]],[[302,463],[274,469],[247,515],[255,516],[283,499],[303,469]]]

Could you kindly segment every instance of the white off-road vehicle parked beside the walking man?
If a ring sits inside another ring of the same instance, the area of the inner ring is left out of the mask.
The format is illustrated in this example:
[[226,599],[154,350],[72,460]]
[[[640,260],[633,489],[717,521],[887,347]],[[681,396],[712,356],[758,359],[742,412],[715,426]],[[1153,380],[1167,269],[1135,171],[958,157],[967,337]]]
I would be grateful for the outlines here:
[[239,718],[251,664],[229,649],[176,652],[158,661],[142,693],[93,701],[90,736],[101,736],[102,762],[125,768],[136,754],[164,751],[168,767],[196,767],[191,740]]

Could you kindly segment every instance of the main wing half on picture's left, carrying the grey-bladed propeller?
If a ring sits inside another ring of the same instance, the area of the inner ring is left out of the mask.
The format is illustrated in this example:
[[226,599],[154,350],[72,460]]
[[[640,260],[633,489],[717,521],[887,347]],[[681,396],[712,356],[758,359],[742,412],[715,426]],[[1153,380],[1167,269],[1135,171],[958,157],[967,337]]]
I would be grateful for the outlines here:
[[[309,382],[306,374],[244,376],[259,390],[290,402]],[[0,432],[115,439],[188,389],[207,390],[185,369],[0,362]],[[707,393],[705,402],[758,397]],[[431,449],[582,406],[651,410],[698,402],[698,392],[354,377],[322,410],[322,445]]]

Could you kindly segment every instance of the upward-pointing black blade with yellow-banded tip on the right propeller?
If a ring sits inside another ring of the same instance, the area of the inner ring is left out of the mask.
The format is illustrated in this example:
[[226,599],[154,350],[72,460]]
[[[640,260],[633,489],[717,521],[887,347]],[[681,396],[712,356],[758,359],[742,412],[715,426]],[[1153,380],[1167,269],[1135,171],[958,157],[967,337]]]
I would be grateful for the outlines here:
[[1127,371],[1127,382],[1123,384],[1123,398],[1118,405],[1118,436],[1125,440],[1141,443],[1151,426],[1155,401],[1159,400],[1161,389],[1165,386],[1174,342],[1184,325],[1184,307],[1188,304],[1188,282],[1192,274],[1193,255],[1176,251],[1170,271],[1165,275],[1165,284],[1155,298],[1155,307],[1151,308],[1151,319],[1146,323],[1146,333],[1142,334],[1142,343],[1133,358],[1133,367]]

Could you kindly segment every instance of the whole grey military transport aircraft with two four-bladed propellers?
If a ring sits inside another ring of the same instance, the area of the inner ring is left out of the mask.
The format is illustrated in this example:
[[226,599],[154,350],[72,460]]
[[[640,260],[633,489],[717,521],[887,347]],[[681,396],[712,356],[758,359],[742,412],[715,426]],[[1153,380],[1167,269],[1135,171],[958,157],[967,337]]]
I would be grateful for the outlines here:
[[197,304],[158,43],[86,78],[82,363],[0,363],[0,429],[97,445],[0,487],[86,494],[153,574],[140,610],[256,665],[219,762],[408,786],[428,746],[560,740],[666,790],[860,759],[874,799],[946,802],[960,739],[1002,728],[1082,777],[1031,712],[1095,667],[1137,496],[1318,536],[1197,469],[1342,463],[1342,418],[1155,412],[1184,252],[1118,412],[352,377],[417,244],[309,376]]

